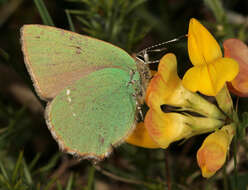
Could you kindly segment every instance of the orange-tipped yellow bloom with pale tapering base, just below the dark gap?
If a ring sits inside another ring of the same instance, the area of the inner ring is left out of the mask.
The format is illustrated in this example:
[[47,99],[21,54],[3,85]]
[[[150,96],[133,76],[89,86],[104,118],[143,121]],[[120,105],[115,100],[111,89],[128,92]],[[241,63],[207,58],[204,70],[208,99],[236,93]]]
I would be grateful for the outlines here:
[[178,140],[214,131],[224,124],[214,118],[157,112],[153,109],[146,113],[144,123],[149,135],[161,148],[167,148]]

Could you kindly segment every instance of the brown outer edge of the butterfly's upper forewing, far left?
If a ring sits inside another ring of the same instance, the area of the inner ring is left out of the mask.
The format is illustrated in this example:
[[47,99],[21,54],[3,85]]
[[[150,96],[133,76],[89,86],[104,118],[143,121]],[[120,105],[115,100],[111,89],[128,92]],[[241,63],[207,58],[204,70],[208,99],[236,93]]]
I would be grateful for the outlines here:
[[[28,73],[30,74],[31,76],[31,80],[33,82],[33,86],[34,86],[34,89],[36,91],[36,93],[38,94],[38,96],[40,97],[40,99],[42,100],[45,100],[45,101],[49,101],[51,100],[51,98],[47,97],[43,92],[42,90],[40,89],[39,87],[39,82],[38,80],[35,78],[35,74],[30,66],[30,60],[29,60],[29,56],[27,54],[27,48],[26,48],[26,42],[25,42],[25,28],[26,27],[29,27],[29,26],[33,26],[33,25],[24,25],[21,29],[20,29],[20,32],[21,32],[21,45],[22,45],[22,52],[23,52],[23,55],[24,55],[24,63],[25,63],[25,66],[27,68],[27,71]],[[39,25],[38,25],[39,26]]]

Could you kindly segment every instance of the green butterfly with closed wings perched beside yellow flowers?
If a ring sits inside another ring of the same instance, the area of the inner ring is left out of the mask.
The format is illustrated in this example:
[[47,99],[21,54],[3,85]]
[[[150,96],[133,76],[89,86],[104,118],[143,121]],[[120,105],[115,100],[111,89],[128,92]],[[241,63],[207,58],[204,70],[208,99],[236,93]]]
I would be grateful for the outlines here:
[[21,43],[60,149],[96,160],[108,156],[134,129],[134,94],[143,89],[140,72],[147,69],[110,43],[55,27],[25,25]]

